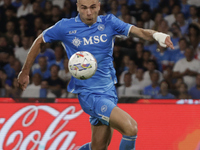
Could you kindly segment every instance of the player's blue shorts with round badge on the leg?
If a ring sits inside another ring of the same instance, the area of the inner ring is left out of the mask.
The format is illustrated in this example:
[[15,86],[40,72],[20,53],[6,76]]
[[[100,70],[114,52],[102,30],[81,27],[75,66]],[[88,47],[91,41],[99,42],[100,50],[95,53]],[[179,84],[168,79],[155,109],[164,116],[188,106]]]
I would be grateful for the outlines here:
[[90,123],[109,125],[111,111],[117,106],[115,86],[104,93],[79,93],[78,99],[82,109],[90,115]]

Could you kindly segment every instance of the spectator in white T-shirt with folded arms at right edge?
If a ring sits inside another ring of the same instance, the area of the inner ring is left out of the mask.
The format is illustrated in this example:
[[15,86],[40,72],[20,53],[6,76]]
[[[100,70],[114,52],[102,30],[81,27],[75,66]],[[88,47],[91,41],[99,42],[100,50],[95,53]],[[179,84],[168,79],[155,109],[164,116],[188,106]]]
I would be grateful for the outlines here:
[[183,77],[188,89],[195,85],[195,76],[200,72],[200,61],[194,59],[194,49],[185,50],[185,58],[175,63],[173,68],[173,77]]

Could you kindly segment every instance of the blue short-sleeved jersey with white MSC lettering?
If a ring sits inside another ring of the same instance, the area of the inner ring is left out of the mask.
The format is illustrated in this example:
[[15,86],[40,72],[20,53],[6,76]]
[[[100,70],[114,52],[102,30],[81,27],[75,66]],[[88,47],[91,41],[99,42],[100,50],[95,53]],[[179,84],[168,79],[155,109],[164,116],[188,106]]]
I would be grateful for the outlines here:
[[43,32],[45,42],[62,42],[68,58],[78,51],[88,51],[97,60],[96,73],[87,80],[72,77],[69,92],[105,92],[117,82],[112,57],[114,39],[116,35],[128,36],[131,26],[112,14],[98,16],[97,22],[88,26],[78,15],[62,19]]

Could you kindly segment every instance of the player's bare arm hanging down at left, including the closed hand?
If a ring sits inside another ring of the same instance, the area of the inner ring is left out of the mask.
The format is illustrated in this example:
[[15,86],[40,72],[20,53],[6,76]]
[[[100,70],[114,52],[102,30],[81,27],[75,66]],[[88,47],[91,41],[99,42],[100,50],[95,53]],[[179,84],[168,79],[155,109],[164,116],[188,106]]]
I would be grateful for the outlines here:
[[42,38],[42,34],[40,34],[37,39],[35,39],[35,41],[33,42],[26,61],[22,67],[22,71],[19,73],[18,75],[18,83],[19,83],[19,87],[22,90],[25,90],[28,83],[29,83],[29,73],[30,73],[30,69],[31,66],[33,65],[33,62],[36,58],[36,56],[40,53],[40,44],[44,43],[43,38]]

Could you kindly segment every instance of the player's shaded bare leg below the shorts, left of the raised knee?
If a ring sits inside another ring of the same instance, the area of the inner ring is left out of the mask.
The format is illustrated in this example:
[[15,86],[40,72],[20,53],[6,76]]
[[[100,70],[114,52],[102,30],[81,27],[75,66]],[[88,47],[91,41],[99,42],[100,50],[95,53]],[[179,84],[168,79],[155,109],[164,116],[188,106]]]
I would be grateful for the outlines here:
[[91,125],[92,129],[92,150],[106,150],[110,144],[113,128],[99,122]]

